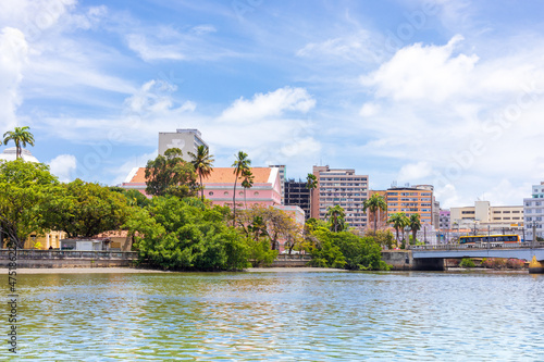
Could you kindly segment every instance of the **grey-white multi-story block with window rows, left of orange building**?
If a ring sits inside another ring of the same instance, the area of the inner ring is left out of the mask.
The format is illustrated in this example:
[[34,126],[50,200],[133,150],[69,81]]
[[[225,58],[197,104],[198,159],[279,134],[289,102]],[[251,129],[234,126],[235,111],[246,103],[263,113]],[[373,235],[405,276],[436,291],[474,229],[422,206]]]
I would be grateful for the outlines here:
[[318,187],[311,192],[311,216],[325,220],[329,208],[341,205],[346,223],[360,230],[367,227],[362,204],[368,199],[369,176],[356,175],[353,168],[313,166]]

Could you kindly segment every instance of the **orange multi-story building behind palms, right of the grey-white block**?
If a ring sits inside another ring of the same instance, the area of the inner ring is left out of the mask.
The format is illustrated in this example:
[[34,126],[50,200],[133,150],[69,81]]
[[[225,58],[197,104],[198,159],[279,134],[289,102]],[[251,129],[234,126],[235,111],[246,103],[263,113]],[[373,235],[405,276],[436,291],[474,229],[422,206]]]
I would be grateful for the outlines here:
[[435,225],[432,186],[392,187],[385,192],[390,217],[397,212],[404,212],[408,217],[419,214],[421,224]]

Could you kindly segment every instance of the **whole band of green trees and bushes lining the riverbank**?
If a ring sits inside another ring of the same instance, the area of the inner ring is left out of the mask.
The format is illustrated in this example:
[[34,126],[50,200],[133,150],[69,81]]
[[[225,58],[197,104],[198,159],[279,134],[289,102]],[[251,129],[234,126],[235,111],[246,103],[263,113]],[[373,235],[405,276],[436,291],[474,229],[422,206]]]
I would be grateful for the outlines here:
[[[139,263],[161,270],[265,266],[281,247],[289,254],[310,254],[313,266],[387,270],[380,251],[381,246],[392,245],[391,233],[359,235],[345,222],[339,205],[329,210],[327,222],[310,219],[306,225],[273,207],[243,208],[236,199],[238,210],[212,205],[198,191],[213,170],[213,155],[203,148],[190,155],[194,162],[185,161],[174,148],[147,163],[150,197],[81,179],[61,183],[41,163],[0,162],[0,241],[24,248],[30,234],[48,230],[65,232],[70,238],[125,230]],[[233,177],[244,191],[254,184],[250,164],[245,152],[235,155]],[[310,190],[317,186],[312,176],[308,176]]]

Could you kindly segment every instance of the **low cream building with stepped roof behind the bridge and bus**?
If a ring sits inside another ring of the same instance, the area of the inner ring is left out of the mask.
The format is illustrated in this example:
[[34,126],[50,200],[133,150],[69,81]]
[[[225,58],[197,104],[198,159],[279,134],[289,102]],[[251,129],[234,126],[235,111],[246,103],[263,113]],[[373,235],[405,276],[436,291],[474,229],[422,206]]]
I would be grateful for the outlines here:
[[523,230],[523,207],[492,207],[490,201],[475,201],[473,207],[450,208],[454,228],[473,233],[520,233]]

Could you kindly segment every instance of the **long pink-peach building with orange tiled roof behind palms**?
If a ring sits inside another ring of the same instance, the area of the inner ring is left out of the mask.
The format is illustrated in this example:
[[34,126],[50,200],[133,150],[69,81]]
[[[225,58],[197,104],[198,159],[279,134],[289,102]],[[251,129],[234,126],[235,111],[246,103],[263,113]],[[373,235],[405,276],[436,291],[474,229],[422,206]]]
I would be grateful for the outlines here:
[[[242,187],[243,178],[236,180],[236,205],[244,208],[255,203],[273,207],[282,204],[282,185],[277,167],[251,167],[254,186],[247,190]],[[134,168],[121,185],[123,188],[137,189],[146,195],[146,168]],[[203,179],[205,197],[219,205],[233,205],[234,168],[213,167],[210,176]],[[245,191],[245,199],[244,199]],[[147,195],[146,195],[147,196]]]

